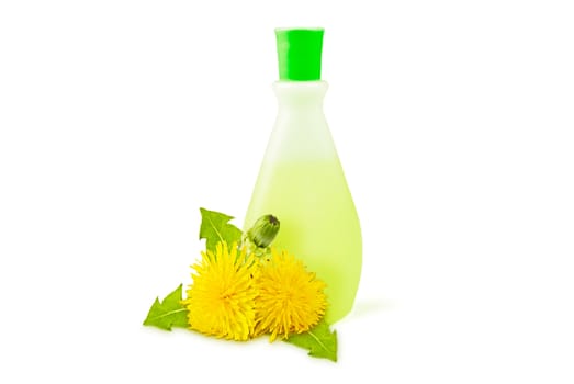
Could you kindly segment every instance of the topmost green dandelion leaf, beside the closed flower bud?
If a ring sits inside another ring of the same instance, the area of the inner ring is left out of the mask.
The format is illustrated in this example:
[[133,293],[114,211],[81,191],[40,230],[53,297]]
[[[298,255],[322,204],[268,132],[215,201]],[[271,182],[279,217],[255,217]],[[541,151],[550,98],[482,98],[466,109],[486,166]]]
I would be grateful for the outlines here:
[[215,211],[201,211],[200,239],[205,239],[207,250],[215,251],[215,246],[220,241],[226,241],[232,245],[234,241],[239,242],[241,230],[228,222],[234,218]]

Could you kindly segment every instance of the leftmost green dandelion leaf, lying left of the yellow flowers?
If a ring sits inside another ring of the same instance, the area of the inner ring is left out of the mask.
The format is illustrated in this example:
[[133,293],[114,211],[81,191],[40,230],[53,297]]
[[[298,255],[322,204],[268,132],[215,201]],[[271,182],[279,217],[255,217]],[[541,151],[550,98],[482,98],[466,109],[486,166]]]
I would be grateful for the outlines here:
[[182,284],[167,295],[161,303],[156,297],[144,320],[145,326],[154,326],[165,330],[171,330],[171,327],[188,327],[188,309],[181,304],[181,286]]

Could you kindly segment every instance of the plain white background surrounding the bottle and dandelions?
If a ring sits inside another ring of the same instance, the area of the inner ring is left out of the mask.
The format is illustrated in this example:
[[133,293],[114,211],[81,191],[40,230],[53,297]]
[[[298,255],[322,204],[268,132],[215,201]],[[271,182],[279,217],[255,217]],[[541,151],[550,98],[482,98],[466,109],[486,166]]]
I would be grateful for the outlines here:
[[[2,383],[572,383],[569,1],[2,1]],[[142,326],[243,223],[273,29],[324,26],[364,264],[339,362]]]

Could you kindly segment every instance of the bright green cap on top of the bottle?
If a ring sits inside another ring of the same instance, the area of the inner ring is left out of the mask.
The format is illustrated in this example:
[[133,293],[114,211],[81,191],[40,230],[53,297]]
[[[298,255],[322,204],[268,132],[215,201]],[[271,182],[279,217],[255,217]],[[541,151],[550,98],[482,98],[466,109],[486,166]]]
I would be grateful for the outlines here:
[[279,79],[320,80],[323,29],[277,29]]

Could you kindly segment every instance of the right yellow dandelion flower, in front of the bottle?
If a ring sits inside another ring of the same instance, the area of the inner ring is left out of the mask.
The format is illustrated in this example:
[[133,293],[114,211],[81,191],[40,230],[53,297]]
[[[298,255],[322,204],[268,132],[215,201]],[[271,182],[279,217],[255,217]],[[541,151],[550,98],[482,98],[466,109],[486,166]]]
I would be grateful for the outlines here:
[[288,338],[313,328],[325,315],[325,283],[286,251],[272,250],[256,278],[256,335]]

